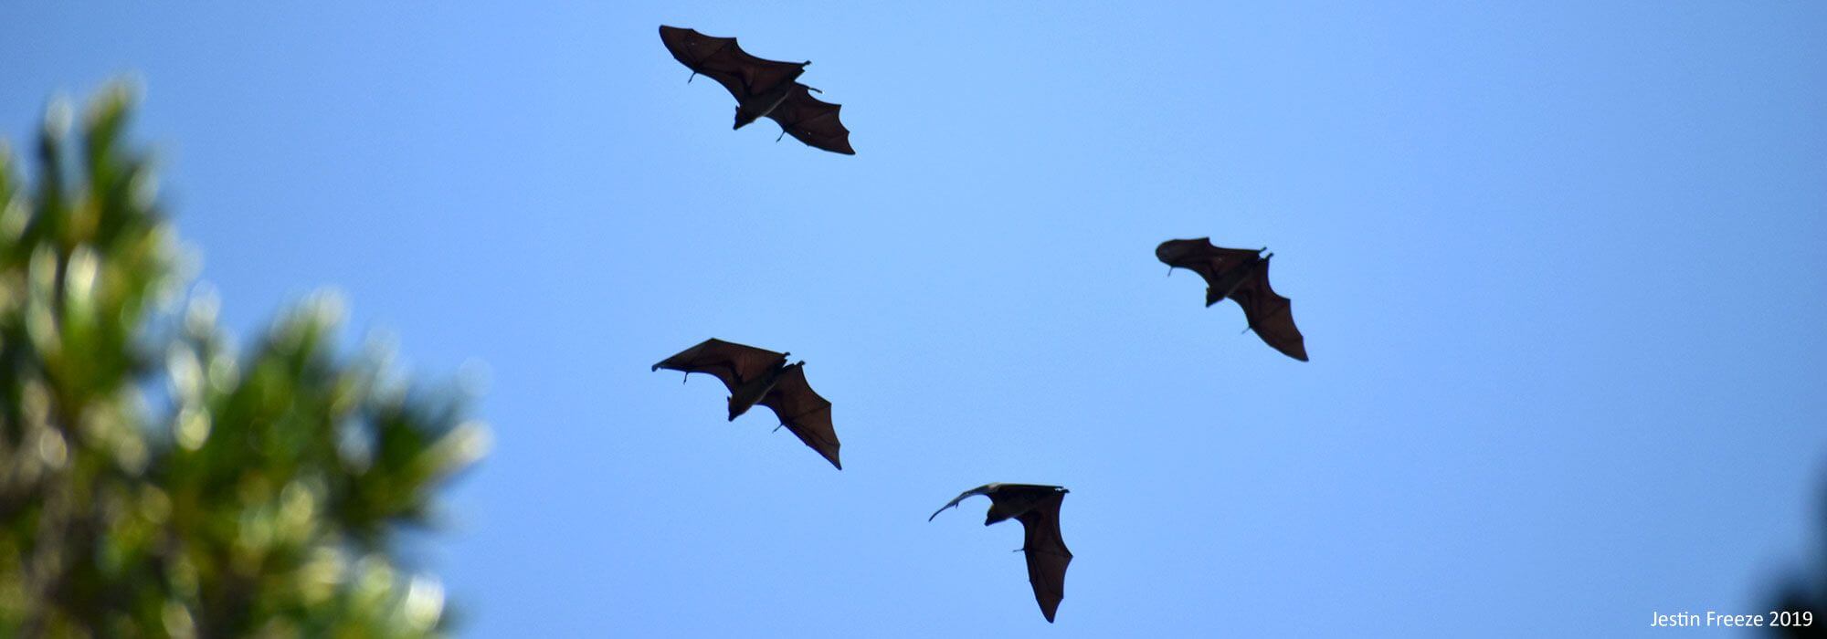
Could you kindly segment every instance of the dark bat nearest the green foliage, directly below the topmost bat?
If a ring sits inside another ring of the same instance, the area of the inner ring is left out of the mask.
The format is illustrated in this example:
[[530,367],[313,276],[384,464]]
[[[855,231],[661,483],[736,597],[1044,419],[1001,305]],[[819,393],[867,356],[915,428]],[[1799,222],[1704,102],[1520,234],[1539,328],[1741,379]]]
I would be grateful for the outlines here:
[[729,387],[731,422],[756,403],[766,405],[780,416],[780,425],[793,431],[800,442],[811,445],[837,469],[844,469],[844,464],[837,460],[839,442],[837,429],[831,427],[831,402],[806,383],[806,361],[789,365],[787,354],[711,338],[665,358],[654,365],[654,371],[685,371],[687,378],[692,372],[707,372],[723,380],[723,385]]

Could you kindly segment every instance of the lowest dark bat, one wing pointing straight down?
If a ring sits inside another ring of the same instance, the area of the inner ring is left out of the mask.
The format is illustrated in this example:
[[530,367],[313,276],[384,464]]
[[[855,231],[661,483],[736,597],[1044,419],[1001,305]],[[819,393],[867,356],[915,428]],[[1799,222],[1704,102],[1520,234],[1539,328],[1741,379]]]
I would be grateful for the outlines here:
[[1005,519],[1021,520],[1021,528],[1027,529],[1021,550],[1027,551],[1029,584],[1034,586],[1040,613],[1047,615],[1047,623],[1052,623],[1052,613],[1060,610],[1060,599],[1065,599],[1065,566],[1072,562],[1072,551],[1065,550],[1065,539],[1060,537],[1060,502],[1065,500],[1065,493],[1071,491],[1060,486],[983,484],[957,495],[926,520],[934,520],[946,508],[956,508],[957,502],[972,495],[990,498],[990,515],[983,526]]

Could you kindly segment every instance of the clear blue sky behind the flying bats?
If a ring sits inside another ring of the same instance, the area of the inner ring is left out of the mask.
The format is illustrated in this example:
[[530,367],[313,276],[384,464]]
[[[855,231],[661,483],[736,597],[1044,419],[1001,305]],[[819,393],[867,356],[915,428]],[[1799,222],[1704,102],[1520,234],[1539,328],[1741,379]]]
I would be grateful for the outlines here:
[[[1820,548],[1827,4],[895,5],[7,4],[0,131],[135,77],[230,323],[488,365],[466,635],[1659,635]],[[857,155],[660,24],[813,60]],[[1312,363],[1164,278],[1200,236]],[[711,336],[846,469],[649,372]],[[926,522],[985,482],[1072,489],[1054,626],[1018,524]]]

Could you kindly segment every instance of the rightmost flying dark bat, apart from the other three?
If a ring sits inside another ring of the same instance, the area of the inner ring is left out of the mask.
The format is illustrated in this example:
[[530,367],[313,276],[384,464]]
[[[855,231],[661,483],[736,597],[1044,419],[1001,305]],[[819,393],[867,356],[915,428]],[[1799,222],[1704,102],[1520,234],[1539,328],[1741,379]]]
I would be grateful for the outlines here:
[[[1268,250],[1268,248],[1262,248]],[[1275,254],[1248,248],[1219,248],[1209,237],[1169,239],[1155,246],[1155,257],[1173,268],[1189,268],[1206,278],[1206,307],[1226,298],[1244,307],[1244,320],[1270,347],[1306,361],[1306,340],[1294,325],[1294,305],[1268,287],[1268,259]]]

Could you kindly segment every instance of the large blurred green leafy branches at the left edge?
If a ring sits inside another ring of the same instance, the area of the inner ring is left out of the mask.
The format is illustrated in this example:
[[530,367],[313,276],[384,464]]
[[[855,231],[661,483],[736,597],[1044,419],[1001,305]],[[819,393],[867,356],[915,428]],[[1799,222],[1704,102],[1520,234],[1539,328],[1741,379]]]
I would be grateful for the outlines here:
[[437,581],[393,537],[486,431],[384,352],[334,354],[340,307],[247,354],[190,299],[132,95],[71,139],[53,104],[33,183],[0,144],[0,635],[418,637]]

